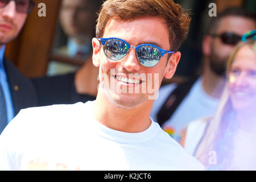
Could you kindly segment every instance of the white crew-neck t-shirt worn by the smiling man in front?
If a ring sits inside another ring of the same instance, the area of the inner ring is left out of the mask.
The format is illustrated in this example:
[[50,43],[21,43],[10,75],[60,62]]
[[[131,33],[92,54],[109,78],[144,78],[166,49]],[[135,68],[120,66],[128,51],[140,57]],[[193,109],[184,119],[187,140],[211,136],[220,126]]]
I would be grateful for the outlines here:
[[95,102],[20,111],[0,137],[0,170],[201,170],[156,122],[141,133],[93,118]]

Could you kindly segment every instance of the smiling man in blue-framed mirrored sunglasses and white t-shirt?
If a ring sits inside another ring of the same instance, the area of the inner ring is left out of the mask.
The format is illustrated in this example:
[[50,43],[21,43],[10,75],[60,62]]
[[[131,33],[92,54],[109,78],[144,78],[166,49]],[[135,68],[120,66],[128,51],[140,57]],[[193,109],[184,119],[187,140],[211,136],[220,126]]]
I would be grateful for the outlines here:
[[203,169],[150,119],[148,88],[174,75],[189,21],[168,0],[106,1],[92,40],[96,101],[22,110],[0,137],[0,169]]

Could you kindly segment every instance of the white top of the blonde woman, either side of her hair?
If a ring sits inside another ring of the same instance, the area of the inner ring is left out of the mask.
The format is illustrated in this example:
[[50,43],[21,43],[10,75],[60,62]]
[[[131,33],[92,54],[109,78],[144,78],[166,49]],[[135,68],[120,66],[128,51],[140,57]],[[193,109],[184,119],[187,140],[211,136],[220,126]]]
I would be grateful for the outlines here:
[[[187,134],[185,137],[184,148],[188,151],[189,154],[195,155],[196,148],[199,145],[201,139],[204,137],[205,129],[207,124],[211,122],[209,117],[197,119],[196,121],[190,122],[187,126]],[[214,170],[256,170],[255,162],[256,162],[256,135],[254,132],[247,132],[241,128],[237,131],[229,131],[231,132],[233,139],[232,148],[229,148],[228,153],[226,155],[231,155],[231,159],[226,160],[226,166],[223,168],[222,164],[214,167]],[[229,143],[226,143],[229,144]],[[218,153],[217,151],[217,156]]]

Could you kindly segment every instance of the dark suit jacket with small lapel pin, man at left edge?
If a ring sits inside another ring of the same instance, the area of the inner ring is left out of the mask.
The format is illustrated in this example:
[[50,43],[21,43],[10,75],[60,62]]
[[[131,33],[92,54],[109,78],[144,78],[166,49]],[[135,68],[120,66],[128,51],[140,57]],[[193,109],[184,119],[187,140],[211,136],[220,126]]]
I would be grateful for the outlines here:
[[24,77],[6,57],[3,58],[3,66],[11,92],[14,115],[17,115],[21,109],[37,106],[36,92],[31,81]]

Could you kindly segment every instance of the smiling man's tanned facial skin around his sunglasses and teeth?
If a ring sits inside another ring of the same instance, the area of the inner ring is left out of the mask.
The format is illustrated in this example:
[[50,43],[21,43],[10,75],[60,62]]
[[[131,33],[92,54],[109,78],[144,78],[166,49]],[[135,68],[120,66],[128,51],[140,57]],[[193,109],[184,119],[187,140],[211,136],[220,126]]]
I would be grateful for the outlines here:
[[[160,44],[161,47],[163,47],[164,49],[168,49],[169,43],[162,43],[164,40],[166,40],[166,37],[168,37],[168,29],[166,28],[166,25],[163,22],[163,19],[158,17],[142,17],[137,18],[130,22],[113,19],[107,24],[104,37],[117,37],[121,39],[126,39],[127,42],[135,46],[143,44],[145,42],[152,43],[155,42],[155,39],[158,39],[159,41],[157,43]],[[154,23],[154,26],[152,26],[152,23]],[[146,29],[146,31],[144,29]],[[141,32],[144,33],[142,34]],[[155,36],[155,39],[151,38],[151,36]],[[123,108],[134,108],[135,106],[141,105],[148,100],[154,100],[156,94],[158,93],[160,82],[162,81],[164,74],[167,72],[167,55],[165,55],[166,57],[162,57],[160,62],[157,65],[155,65],[155,67],[146,68],[143,67],[140,63],[138,63],[135,51],[130,51],[133,52],[130,52],[130,54],[127,55],[124,59],[122,59],[121,61],[117,61],[115,63],[113,61],[106,59],[102,47],[100,54],[102,56],[100,73],[105,73],[105,75],[108,75],[108,77],[106,76],[106,78],[104,79],[105,81],[108,81],[108,83],[110,83],[110,79],[112,78],[112,76],[110,76],[110,68],[115,69],[117,73],[124,75],[134,73],[140,75],[141,73],[144,73],[146,74],[146,76],[148,76],[148,73],[152,74],[151,78],[146,79],[146,87],[148,87],[149,85],[149,87],[152,89],[147,89],[146,93],[129,93],[129,90],[127,90],[128,93],[118,94],[117,92],[115,92],[114,89],[109,88],[107,82],[101,83],[101,91],[104,92],[108,100],[110,100],[114,105]],[[157,83],[154,82],[155,73],[158,73],[158,77],[156,77],[158,78]],[[103,74],[101,74],[101,76],[102,75]],[[117,84],[123,85],[120,81],[117,81]],[[129,86],[127,86],[127,88],[128,87]],[[157,90],[157,92],[152,92],[152,90]],[[148,91],[150,91],[151,93],[148,93]],[[149,96],[150,98],[148,98]]]

